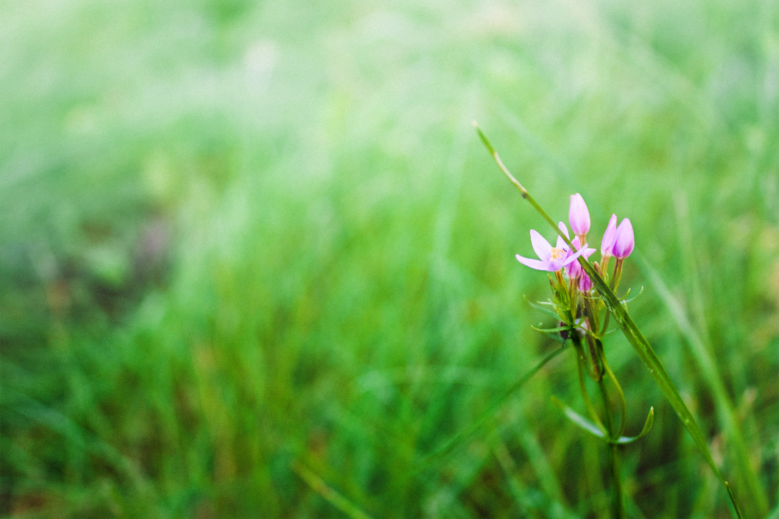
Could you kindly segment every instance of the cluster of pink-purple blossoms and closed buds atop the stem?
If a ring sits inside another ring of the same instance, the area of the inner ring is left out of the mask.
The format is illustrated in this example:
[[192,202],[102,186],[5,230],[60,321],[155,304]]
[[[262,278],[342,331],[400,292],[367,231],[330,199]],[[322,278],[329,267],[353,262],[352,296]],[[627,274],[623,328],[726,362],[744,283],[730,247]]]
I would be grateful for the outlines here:
[[[516,255],[516,259],[532,269],[554,272],[559,284],[565,284],[562,277],[564,269],[572,291],[578,288],[583,294],[588,294],[592,289],[592,280],[590,280],[590,277],[587,276],[587,273],[581,267],[579,257],[582,256],[584,260],[588,260],[590,255],[595,252],[595,249],[587,247],[587,233],[590,231],[590,211],[587,210],[587,204],[584,203],[584,199],[579,193],[571,195],[568,223],[574,234],[571,244],[576,249],[576,252],[570,249],[561,236],[557,237],[556,246],[552,247],[543,236],[531,229],[530,243],[532,243],[533,250],[539,259],[534,260],[519,254]],[[561,221],[559,228],[562,234],[566,235],[566,238],[570,238],[566,224]],[[630,256],[630,252],[633,252],[634,244],[633,224],[630,223],[628,218],[625,218],[618,226],[617,215],[612,214],[612,218],[608,221],[608,227],[601,240],[601,261],[600,263],[594,263],[595,270],[608,281],[608,263],[613,256],[616,258],[617,264],[612,280],[614,284],[619,283],[619,277],[622,274],[622,260]]]

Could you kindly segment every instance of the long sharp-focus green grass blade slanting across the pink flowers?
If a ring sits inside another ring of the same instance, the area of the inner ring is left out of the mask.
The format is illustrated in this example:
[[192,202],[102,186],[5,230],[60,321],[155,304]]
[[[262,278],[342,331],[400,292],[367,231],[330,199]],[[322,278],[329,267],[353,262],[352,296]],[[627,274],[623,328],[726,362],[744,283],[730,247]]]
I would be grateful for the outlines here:
[[[557,224],[555,224],[555,221],[552,221],[552,218],[549,217],[546,211],[540,205],[538,205],[538,202],[536,202],[532,196],[530,196],[530,193],[527,192],[527,189],[525,189],[523,185],[520,184],[520,182],[517,181],[513,175],[511,175],[508,169],[506,169],[506,166],[503,165],[500,157],[498,156],[498,153],[495,151],[495,148],[492,147],[492,143],[489,142],[489,139],[487,139],[487,136],[485,136],[484,132],[481,131],[481,128],[479,128],[478,124],[475,121],[473,124],[474,128],[479,134],[479,137],[481,138],[481,141],[485,143],[487,150],[495,160],[495,164],[498,164],[498,167],[501,169],[501,171],[503,171],[506,177],[509,178],[509,181],[516,186],[516,189],[520,190],[523,199],[526,199],[530,205],[538,211],[538,214],[541,214],[541,217],[543,217],[548,222],[548,224],[552,226],[552,228],[563,239],[566,245],[573,249],[573,244],[569,238],[559,230]],[[682,400],[682,396],[679,394],[679,390],[676,389],[676,386],[671,380],[671,377],[668,376],[668,372],[665,371],[665,367],[662,362],[660,362],[660,358],[657,358],[657,354],[649,344],[649,341],[647,341],[647,338],[643,336],[641,330],[639,330],[639,328],[636,326],[636,323],[633,322],[633,318],[629,315],[627,309],[622,305],[622,302],[619,301],[619,298],[617,298],[614,291],[612,291],[611,288],[608,288],[608,284],[606,284],[600,274],[597,274],[594,267],[582,256],[579,256],[578,261],[583,270],[590,277],[590,280],[592,280],[595,289],[601,295],[601,300],[608,308],[608,311],[611,312],[612,316],[614,316],[614,320],[617,322],[619,329],[622,330],[622,334],[625,335],[630,345],[633,346],[634,350],[636,350],[636,354],[641,359],[641,362],[643,362],[644,365],[647,366],[647,369],[649,369],[650,376],[652,376],[655,383],[657,383],[657,386],[660,387],[660,390],[668,399],[671,407],[674,408],[676,415],[678,415],[679,419],[682,420],[682,424],[685,426],[685,429],[687,429],[689,435],[693,436],[693,441],[695,442],[696,447],[698,447],[698,450],[700,450],[700,453],[703,454],[703,459],[706,460],[707,464],[709,464],[711,467],[711,470],[714,471],[714,475],[717,475],[717,479],[720,480],[724,488],[728,491],[728,497],[730,498],[732,505],[731,513],[735,514],[735,517],[741,519],[741,511],[738,510],[735,496],[733,496],[730,485],[727,481],[725,481],[725,478],[723,477],[719,468],[717,468],[717,464],[714,463],[714,457],[711,456],[706,437],[703,436],[703,433],[701,432],[700,427],[698,427],[693,414],[689,411],[687,405]]]

